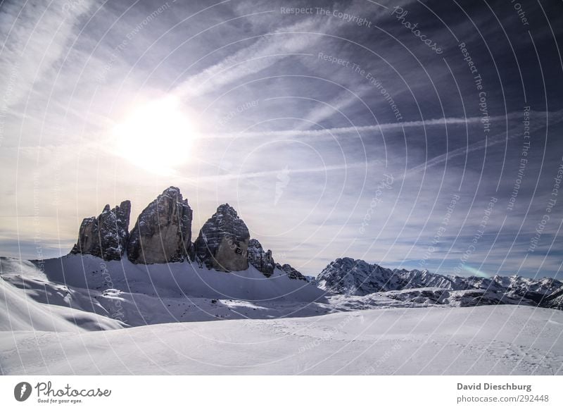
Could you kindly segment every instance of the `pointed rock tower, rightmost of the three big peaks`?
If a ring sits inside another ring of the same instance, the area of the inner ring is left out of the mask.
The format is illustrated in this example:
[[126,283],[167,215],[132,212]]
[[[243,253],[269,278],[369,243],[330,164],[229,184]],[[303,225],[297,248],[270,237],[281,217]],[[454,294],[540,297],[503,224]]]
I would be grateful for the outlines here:
[[248,269],[250,233],[229,204],[220,205],[205,222],[194,242],[196,258],[217,271]]

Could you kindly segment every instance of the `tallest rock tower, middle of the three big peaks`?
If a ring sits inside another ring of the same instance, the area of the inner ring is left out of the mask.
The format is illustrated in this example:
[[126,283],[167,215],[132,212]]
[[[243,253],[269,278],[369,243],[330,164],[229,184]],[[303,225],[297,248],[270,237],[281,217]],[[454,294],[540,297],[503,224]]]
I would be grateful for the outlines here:
[[129,235],[133,263],[184,261],[192,254],[192,211],[179,188],[169,187],[141,212]]

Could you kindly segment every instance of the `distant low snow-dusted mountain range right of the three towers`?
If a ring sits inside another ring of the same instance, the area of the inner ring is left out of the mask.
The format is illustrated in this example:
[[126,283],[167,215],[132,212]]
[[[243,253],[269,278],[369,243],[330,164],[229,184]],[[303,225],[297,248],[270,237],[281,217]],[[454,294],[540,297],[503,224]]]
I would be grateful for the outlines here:
[[445,276],[429,271],[391,270],[361,259],[342,258],[331,262],[315,281],[329,292],[358,296],[377,293],[423,304],[523,304],[563,309],[563,282],[553,278]]

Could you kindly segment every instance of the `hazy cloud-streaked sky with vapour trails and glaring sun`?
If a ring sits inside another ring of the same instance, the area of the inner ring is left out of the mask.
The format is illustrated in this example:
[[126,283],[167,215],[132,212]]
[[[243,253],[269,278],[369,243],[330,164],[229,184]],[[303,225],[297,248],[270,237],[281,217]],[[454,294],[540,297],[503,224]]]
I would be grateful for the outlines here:
[[2,1],[0,255],[166,187],[280,263],[563,278],[561,1]]

